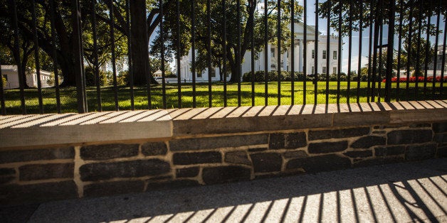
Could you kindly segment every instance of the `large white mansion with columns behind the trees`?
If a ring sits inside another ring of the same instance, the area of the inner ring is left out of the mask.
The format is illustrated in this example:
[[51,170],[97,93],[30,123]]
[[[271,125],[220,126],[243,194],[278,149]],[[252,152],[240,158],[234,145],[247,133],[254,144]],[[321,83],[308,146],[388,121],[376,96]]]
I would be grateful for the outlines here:
[[[268,44],[268,71],[281,70],[291,71],[292,62],[295,67],[295,72],[303,72],[304,69],[304,48],[307,50],[306,62],[307,62],[307,75],[315,73],[315,67],[317,67],[317,72],[319,74],[325,74],[326,72],[337,73],[338,60],[341,53],[338,52],[338,36],[330,36],[330,52],[327,52],[327,36],[322,36],[321,33],[317,38],[318,41],[318,64],[315,66],[315,26],[307,25],[307,35],[306,43],[304,43],[304,24],[301,22],[295,23],[295,41],[294,41],[294,54],[295,60],[292,61],[291,57],[291,47],[287,46],[285,53],[280,55],[280,65],[278,65],[278,48],[275,43]],[[284,48],[285,46],[282,46]],[[182,57],[180,61],[180,70],[182,80],[191,81],[191,49],[189,54]],[[255,60],[255,72],[258,70],[265,70],[265,53],[264,50],[257,53],[257,59]],[[327,60],[329,60],[329,67],[327,67]],[[340,58],[341,60],[341,58]],[[243,58],[243,63],[241,65],[242,74],[251,71],[251,51],[248,50]],[[229,71],[228,71],[229,72]],[[215,67],[211,72],[211,80],[219,80],[219,67]],[[204,82],[208,81],[208,69],[202,72],[196,73],[196,81]]]

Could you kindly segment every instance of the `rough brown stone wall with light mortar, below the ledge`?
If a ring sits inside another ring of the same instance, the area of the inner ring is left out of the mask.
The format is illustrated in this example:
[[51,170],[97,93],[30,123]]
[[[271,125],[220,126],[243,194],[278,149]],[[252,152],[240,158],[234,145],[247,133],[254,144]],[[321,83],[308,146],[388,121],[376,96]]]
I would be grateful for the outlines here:
[[[446,114],[446,109],[436,111]],[[316,114],[298,116],[307,119],[312,115]],[[275,118],[281,117],[287,116]],[[193,123],[189,131],[176,134],[176,118],[172,117],[171,137],[0,148],[0,205],[212,185],[447,155],[447,115],[432,122],[396,124],[388,120],[388,124],[352,126],[335,126],[332,116],[328,127],[293,129],[285,120],[268,127],[275,130],[216,134],[209,123],[221,119],[228,117],[179,119],[208,124]],[[286,127],[281,128],[283,124]],[[201,128],[209,134],[198,134]]]

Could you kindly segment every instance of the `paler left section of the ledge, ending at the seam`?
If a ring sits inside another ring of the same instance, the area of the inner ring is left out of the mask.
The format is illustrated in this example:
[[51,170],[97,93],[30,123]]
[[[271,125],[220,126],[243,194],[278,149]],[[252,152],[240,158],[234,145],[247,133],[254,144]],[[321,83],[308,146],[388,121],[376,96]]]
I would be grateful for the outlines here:
[[163,110],[2,116],[0,148],[169,138]]

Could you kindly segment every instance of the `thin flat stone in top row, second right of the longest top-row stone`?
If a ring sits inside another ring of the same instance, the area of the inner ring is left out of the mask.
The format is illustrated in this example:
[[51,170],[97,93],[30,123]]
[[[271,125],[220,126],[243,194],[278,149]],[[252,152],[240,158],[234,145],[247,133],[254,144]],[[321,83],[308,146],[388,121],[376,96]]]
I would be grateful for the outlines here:
[[369,134],[369,127],[335,129],[335,130],[310,130],[309,140],[327,138],[350,138]]

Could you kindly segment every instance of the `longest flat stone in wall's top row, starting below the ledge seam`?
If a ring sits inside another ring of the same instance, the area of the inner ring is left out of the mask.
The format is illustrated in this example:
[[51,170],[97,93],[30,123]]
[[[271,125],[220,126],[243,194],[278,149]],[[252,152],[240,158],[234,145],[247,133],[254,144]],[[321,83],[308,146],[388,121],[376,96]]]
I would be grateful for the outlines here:
[[265,145],[268,134],[220,136],[206,138],[182,138],[169,141],[171,151],[197,151],[213,148]]

